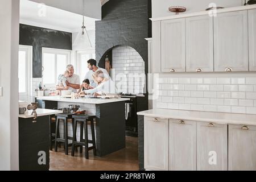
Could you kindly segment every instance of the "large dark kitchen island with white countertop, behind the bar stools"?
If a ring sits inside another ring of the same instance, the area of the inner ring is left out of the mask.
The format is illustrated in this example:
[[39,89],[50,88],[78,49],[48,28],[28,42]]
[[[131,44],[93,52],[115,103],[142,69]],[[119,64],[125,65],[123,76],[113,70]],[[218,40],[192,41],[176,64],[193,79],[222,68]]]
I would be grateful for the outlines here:
[[[125,101],[129,98],[63,98],[60,96],[36,97],[36,102],[43,109],[80,105],[86,114],[96,115],[96,155],[101,157],[125,148]],[[68,126],[68,135],[72,136],[72,126]],[[80,133],[77,129],[77,139]],[[90,129],[88,129],[90,131]],[[63,130],[60,127],[60,136]],[[89,139],[90,139],[89,133]]]

